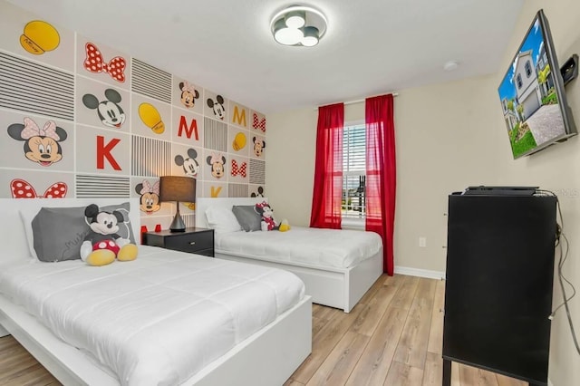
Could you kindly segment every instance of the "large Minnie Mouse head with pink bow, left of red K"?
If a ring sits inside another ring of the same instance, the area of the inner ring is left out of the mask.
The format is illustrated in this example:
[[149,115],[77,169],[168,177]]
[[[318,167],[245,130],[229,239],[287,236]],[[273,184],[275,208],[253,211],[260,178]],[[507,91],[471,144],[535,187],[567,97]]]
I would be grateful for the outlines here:
[[8,126],[8,135],[14,140],[24,140],[24,156],[41,166],[51,166],[63,159],[59,142],[66,140],[67,134],[54,121],[47,121],[40,129],[36,122],[26,117],[24,125],[14,123]]

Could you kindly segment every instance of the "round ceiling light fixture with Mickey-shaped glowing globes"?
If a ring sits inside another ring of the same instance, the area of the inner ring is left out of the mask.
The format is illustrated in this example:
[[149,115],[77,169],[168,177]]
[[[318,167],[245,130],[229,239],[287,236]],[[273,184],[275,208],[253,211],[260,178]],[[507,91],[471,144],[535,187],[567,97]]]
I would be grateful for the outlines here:
[[312,47],[326,33],[326,17],[313,7],[292,5],[274,15],[270,29],[280,44]]

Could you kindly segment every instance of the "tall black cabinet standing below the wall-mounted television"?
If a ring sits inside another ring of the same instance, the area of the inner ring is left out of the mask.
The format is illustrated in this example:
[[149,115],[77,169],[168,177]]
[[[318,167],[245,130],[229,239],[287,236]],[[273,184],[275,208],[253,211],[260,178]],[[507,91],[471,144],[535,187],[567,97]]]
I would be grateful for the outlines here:
[[462,362],[547,384],[556,197],[449,196],[443,384]]

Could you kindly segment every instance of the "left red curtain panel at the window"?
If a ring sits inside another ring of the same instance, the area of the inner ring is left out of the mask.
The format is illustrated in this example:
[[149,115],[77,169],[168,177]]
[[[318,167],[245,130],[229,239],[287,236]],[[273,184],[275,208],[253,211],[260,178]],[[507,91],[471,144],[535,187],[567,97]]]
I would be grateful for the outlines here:
[[310,227],[341,228],[344,104],[318,108]]

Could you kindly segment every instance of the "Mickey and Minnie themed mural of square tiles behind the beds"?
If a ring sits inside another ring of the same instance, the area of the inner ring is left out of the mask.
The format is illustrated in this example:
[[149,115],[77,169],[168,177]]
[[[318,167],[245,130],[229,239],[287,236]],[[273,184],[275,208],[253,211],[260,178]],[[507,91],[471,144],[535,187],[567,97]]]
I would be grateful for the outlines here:
[[0,198],[139,198],[153,229],[174,210],[160,176],[197,179],[198,197],[264,196],[264,114],[0,2]]

